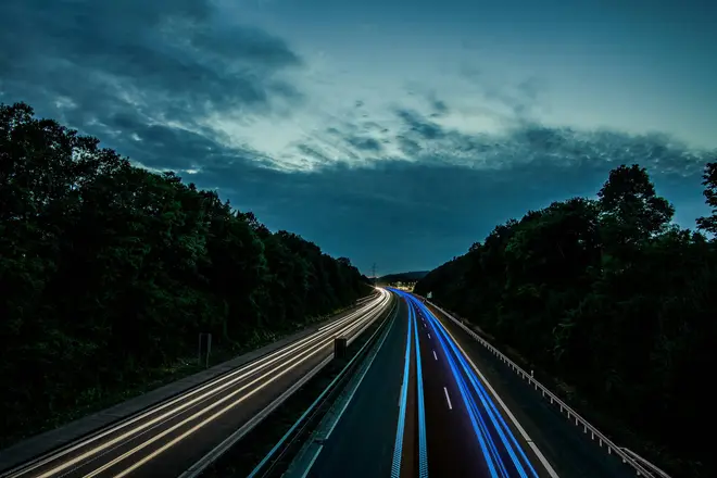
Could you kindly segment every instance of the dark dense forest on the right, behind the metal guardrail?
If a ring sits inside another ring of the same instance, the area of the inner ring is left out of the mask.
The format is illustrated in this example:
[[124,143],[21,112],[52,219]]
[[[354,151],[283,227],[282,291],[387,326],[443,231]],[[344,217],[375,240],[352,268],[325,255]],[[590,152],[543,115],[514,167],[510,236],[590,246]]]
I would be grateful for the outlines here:
[[[717,163],[703,185],[712,216],[697,229],[714,235]],[[416,292],[570,385],[620,444],[676,477],[714,477],[703,416],[717,366],[717,242],[671,224],[674,212],[644,168],[622,165],[596,200],[495,227]]]

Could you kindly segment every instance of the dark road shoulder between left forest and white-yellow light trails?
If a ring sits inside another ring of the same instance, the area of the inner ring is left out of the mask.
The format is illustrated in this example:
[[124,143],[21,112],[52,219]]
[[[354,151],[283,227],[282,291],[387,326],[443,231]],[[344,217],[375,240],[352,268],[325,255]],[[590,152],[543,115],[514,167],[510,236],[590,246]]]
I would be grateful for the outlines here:
[[[358,303],[357,303],[358,304]],[[58,450],[72,443],[79,438],[87,437],[93,432],[128,418],[146,408],[158,403],[169,400],[180,393],[191,390],[207,380],[219,377],[232,369],[252,362],[263,355],[266,355],[284,345],[299,340],[314,332],[319,327],[340,318],[354,310],[354,306],[337,314],[330,319],[316,323],[305,329],[287,336],[276,342],[269,343],[260,349],[239,355],[230,361],[215,365],[205,370],[181,378],[172,383],[156,388],[150,392],[129,399],[125,402],[113,405],[101,412],[78,418],[59,428],[48,430],[35,437],[17,442],[4,450],[0,450],[0,471],[17,466],[37,456]]]

